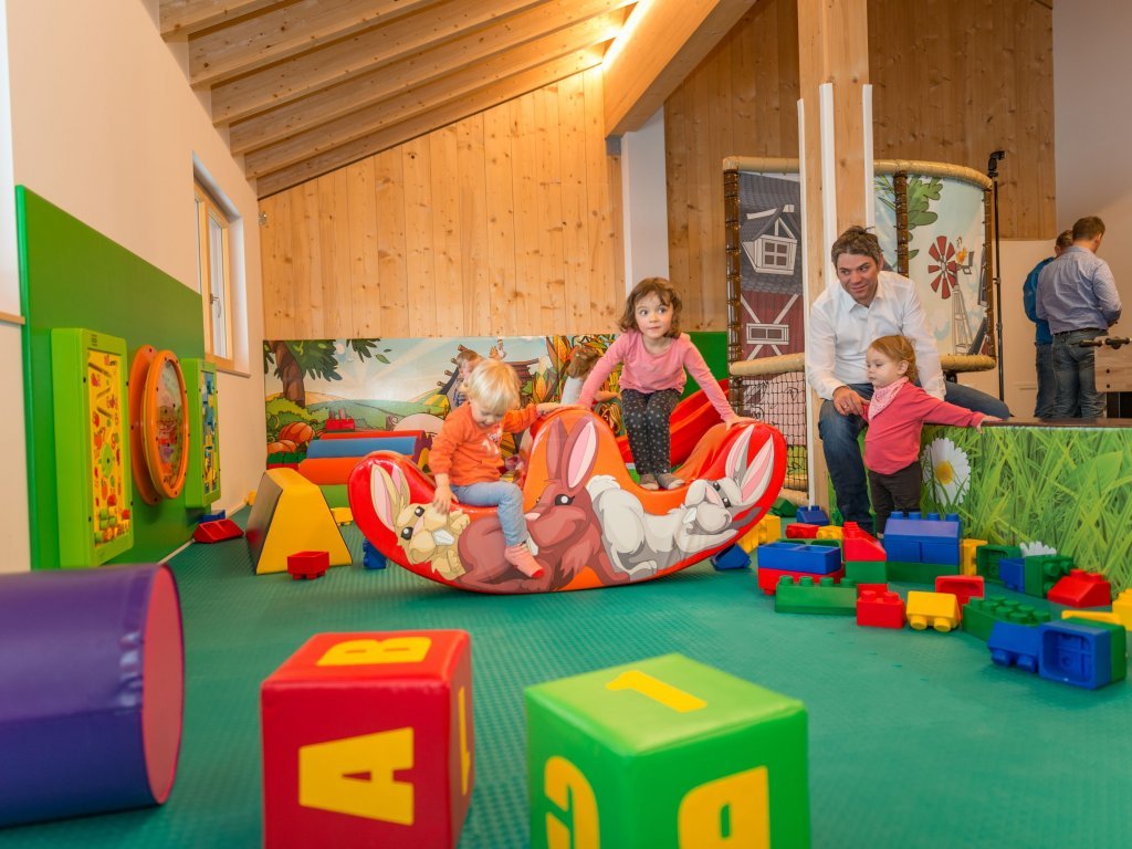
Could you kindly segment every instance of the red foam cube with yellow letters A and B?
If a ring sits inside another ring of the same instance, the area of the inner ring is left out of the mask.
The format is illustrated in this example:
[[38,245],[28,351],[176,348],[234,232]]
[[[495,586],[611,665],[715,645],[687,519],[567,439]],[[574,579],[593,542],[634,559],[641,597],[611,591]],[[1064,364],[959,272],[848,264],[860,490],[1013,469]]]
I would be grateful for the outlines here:
[[452,849],[475,778],[463,631],[316,634],[260,689],[266,847]]

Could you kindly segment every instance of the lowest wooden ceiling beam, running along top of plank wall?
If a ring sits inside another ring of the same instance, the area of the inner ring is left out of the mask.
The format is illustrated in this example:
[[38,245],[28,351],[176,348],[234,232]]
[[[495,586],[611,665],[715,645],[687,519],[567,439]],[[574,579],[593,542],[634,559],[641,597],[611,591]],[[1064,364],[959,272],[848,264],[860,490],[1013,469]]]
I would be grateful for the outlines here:
[[[593,68],[601,62],[601,49],[582,51],[576,55],[549,62],[539,68],[518,74],[495,85],[487,86],[469,95],[456,96],[445,103],[436,103],[430,111],[412,117],[401,123],[385,127],[361,138],[355,138],[338,147],[312,152],[312,155],[278,170],[261,172],[257,180],[257,194],[267,197],[307,180],[312,180],[335,169],[343,168],[375,153],[404,144],[440,127],[469,118],[491,106],[556,83],[566,77]],[[249,177],[251,172],[249,170]]]

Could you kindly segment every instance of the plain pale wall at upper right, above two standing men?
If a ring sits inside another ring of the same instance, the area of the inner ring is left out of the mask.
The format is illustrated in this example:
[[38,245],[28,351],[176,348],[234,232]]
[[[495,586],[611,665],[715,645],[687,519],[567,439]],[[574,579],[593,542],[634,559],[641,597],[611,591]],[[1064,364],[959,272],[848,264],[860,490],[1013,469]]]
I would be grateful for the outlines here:
[[1132,329],[1132,3],[1072,0],[1054,3],[1054,114],[1057,225],[1099,215],[1107,232],[1099,256],[1116,276]]

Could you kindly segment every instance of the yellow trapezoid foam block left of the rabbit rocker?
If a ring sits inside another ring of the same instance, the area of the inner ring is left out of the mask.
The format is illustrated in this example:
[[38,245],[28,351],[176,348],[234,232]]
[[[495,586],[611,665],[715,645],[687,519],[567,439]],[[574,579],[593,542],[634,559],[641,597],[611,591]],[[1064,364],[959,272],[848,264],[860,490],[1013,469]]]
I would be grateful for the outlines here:
[[352,561],[323,491],[294,469],[264,472],[245,537],[257,575],[286,572],[288,555],[298,551],[326,551],[331,566]]

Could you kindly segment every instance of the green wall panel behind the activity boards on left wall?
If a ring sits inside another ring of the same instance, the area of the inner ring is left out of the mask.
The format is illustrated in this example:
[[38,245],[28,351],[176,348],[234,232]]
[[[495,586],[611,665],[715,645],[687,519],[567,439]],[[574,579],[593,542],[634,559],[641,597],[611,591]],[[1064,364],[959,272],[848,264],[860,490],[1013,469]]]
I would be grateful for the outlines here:
[[[16,188],[24,326],[24,404],[33,568],[59,566],[51,331],[85,327],[179,358],[204,357],[200,295],[117,242]],[[114,563],[152,561],[186,542],[199,512],[183,495],[149,506],[134,499],[134,548]]]

